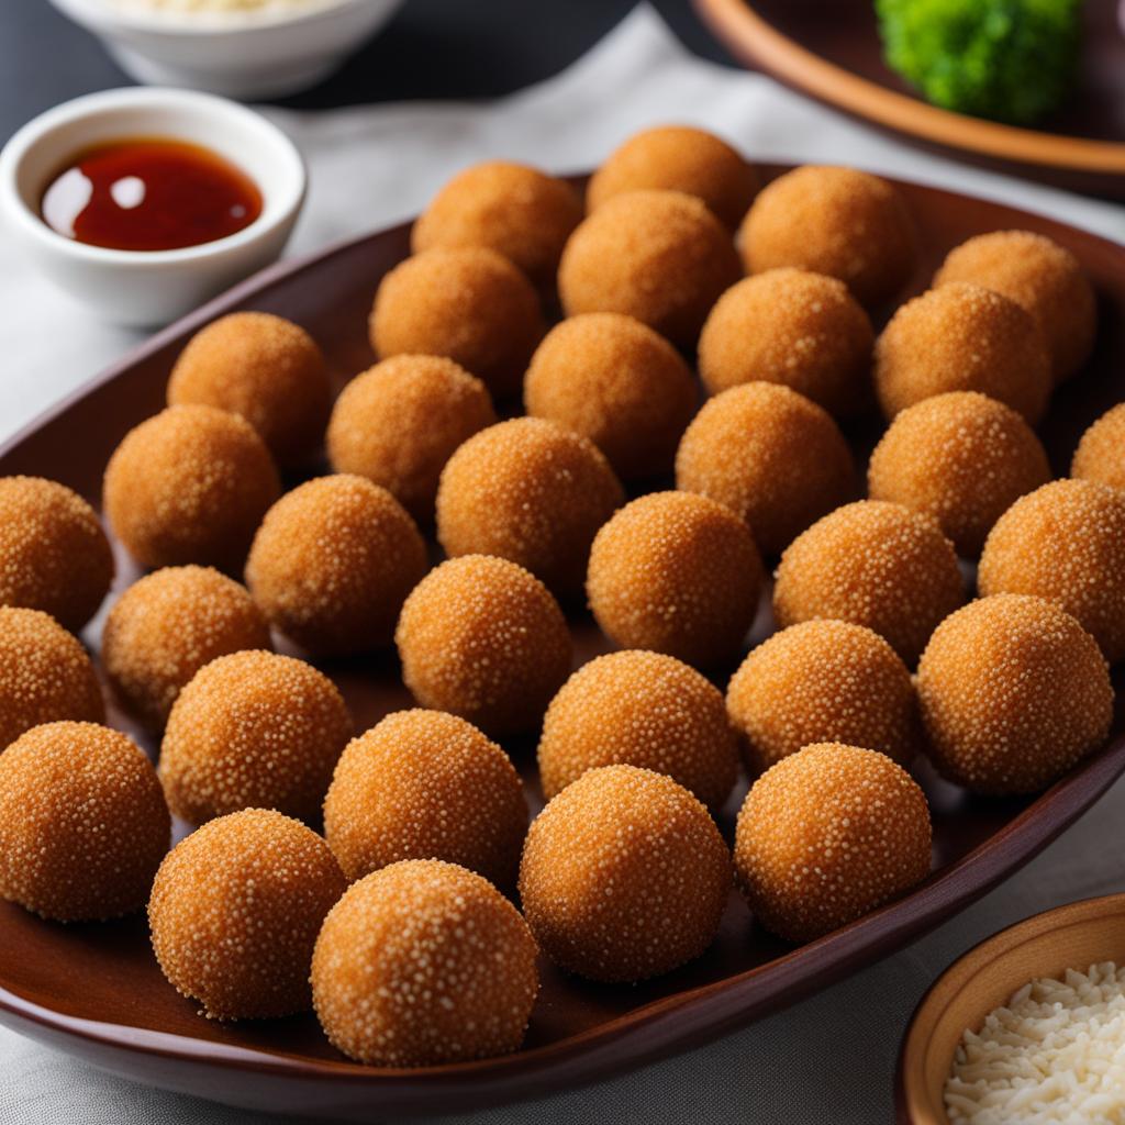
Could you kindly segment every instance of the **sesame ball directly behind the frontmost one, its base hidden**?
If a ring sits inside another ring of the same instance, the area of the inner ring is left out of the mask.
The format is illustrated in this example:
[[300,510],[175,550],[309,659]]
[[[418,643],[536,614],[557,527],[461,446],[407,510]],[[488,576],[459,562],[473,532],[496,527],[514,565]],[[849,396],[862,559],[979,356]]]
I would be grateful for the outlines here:
[[399,860],[446,860],[515,885],[528,801],[507,755],[443,711],[397,711],[352,739],[324,799],[349,880]]

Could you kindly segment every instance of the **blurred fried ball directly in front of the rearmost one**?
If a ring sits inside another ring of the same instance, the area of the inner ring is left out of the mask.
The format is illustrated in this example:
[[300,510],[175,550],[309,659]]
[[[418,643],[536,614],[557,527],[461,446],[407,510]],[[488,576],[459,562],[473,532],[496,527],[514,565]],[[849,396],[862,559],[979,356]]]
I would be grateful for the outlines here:
[[741,270],[730,232],[682,191],[630,191],[590,215],[562,251],[567,316],[624,313],[684,348]]

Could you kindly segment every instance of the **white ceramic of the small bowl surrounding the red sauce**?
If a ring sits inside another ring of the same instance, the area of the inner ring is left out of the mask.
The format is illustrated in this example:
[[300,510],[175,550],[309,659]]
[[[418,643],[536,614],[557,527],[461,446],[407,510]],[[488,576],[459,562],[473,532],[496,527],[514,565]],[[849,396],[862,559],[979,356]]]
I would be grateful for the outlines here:
[[[241,168],[262,194],[249,226],[182,250],[107,250],[68,238],[39,217],[52,176],[83,148],[122,137],[204,145]],[[63,289],[118,324],[166,324],[274,261],[305,199],[292,142],[243,106],[189,90],[130,88],[47,110],[0,152],[0,214],[30,259]]]

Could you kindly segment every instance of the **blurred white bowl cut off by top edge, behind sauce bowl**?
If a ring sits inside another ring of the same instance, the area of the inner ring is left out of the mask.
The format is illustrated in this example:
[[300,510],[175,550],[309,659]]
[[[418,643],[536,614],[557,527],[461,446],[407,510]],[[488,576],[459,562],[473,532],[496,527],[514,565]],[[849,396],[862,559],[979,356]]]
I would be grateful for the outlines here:
[[120,0],[51,0],[93,32],[141,82],[230,98],[278,98],[314,86],[403,0],[309,0],[249,14],[147,10]]

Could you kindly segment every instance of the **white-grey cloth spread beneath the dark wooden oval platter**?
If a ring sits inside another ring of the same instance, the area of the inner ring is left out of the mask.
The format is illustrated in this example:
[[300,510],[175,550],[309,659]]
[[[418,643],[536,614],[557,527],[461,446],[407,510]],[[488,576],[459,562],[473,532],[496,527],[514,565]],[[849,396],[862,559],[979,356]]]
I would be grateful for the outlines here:
[[[1118,240],[1125,210],[907,148],[778,88],[688,55],[640,6],[565,73],[501,101],[270,110],[312,173],[291,252],[417,212],[453,171],[505,156],[566,172],[631,132],[699,123],[762,160],[854,163],[1044,212]],[[90,318],[0,240],[0,440],[90,378],[136,336]],[[957,954],[1028,914],[1125,886],[1125,783],[1037,861],[911,948],[710,1047],[546,1101],[459,1117],[495,1125],[695,1119],[873,1125],[891,1118],[899,1038]],[[0,1125],[250,1125],[259,1117],[108,1078],[0,1028]]]

